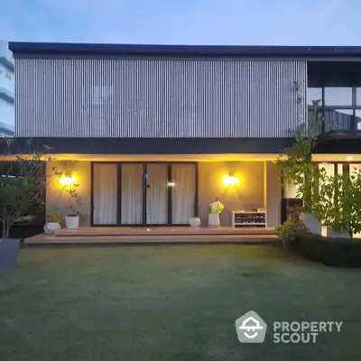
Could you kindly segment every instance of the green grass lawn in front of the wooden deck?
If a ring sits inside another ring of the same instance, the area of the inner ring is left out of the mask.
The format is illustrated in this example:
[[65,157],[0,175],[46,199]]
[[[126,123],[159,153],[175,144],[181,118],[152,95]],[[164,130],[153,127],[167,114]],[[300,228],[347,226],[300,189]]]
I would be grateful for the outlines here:
[[[0,360],[360,360],[360,276],[271,246],[25,248],[0,275]],[[248,310],[344,325],[246,345],[234,322]]]

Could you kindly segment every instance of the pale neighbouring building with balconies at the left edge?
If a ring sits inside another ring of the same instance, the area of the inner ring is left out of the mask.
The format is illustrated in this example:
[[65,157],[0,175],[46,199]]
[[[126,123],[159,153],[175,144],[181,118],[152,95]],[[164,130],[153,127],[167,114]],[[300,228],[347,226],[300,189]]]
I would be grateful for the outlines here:
[[14,135],[14,84],[13,55],[0,41],[0,137]]

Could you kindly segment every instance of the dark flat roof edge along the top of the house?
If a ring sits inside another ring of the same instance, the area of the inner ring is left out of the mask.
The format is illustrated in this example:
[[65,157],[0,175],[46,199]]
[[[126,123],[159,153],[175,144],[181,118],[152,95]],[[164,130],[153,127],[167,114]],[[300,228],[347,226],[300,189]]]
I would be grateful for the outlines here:
[[273,59],[361,59],[361,46],[198,46],[56,42],[10,42],[14,58],[26,57],[194,57]]

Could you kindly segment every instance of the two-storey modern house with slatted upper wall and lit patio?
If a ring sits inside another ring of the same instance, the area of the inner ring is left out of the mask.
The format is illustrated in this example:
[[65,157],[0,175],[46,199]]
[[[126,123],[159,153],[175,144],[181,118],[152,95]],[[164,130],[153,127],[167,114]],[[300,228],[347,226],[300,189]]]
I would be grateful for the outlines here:
[[[329,171],[361,162],[361,48],[141,46],[12,42],[15,136],[52,147],[56,166],[79,183],[85,224],[205,225],[209,203],[264,208],[281,222],[272,161],[307,121],[311,100],[333,125],[315,154]],[[347,116],[345,116],[347,115]],[[339,126],[337,126],[339,125]],[[334,140],[335,138],[352,138]],[[18,140],[19,143],[22,139]],[[240,181],[222,184],[224,176]],[[48,211],[69,212],[58,180]]]

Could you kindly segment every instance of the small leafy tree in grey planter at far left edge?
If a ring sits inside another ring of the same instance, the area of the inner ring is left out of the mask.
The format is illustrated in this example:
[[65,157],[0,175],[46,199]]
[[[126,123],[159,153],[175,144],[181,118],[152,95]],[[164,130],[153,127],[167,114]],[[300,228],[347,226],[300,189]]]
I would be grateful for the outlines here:
[[[26,142],[26,155],[14,156],[12,138],[0,141],[3,153],[0,161],[0,272],[11,271],[17,264],[20,239],[10,237],[14,223],[30,208],[40,208],[44,199],[47,174],[45,162],[50,156],[33,151],[31,142]],[[48,149],[49,147],[43,147]],[[10,156],[7,160],[6,156]]]

